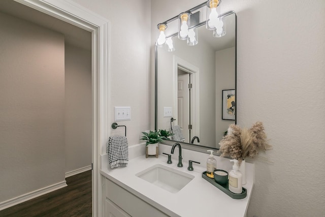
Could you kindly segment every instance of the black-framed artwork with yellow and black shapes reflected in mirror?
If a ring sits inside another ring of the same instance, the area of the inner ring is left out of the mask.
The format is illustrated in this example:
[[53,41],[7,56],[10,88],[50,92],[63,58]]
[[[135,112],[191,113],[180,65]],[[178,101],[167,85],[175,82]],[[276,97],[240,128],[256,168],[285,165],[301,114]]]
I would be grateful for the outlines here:
[[236,97],[235,89],[222,90],[222,119],[235,120]]

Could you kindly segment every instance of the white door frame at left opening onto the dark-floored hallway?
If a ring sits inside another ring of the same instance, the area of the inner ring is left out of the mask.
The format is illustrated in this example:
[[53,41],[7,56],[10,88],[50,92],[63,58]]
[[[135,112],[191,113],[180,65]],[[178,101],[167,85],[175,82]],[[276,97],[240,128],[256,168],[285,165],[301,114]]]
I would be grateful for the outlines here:
[[14,0],[91,32],[92,77],[92,216],[104,216],[100,153],[108,138],[109,110],[109,21],[66,0]]

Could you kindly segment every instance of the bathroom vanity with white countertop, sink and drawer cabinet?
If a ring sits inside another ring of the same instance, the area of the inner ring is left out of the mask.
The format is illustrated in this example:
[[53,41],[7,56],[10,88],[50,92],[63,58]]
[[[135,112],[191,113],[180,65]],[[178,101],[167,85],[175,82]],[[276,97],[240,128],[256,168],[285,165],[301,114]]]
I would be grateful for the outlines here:
[[[110,169],[107,156],[102,156],[101,174],[105,177],[105,216],[245,216],[249,204],[253,183],[254,165],[246,163],[247,190],[244,199],[233,199],[202,178],[206,170],[208,153],[182,149],[183,167],[177,167],[178,154],[173,154],[172,164],[167,164],[165,154],[159,158],[137,156],[144,153],[145,145],[131,146],[128,165],[124,168]],[[171,146],[159,144],[159,153],[170,153]],[[230,170],[230,159],[217,159],[217,167]],[[193,171],[188,171],[188,160],[201,162],[193,164]],[[164,183],[151,183],[150,172],[163,168],[167,174],[161,174]],[[158,169],[159,169],[158,168]],[[178,173],[178,174],[174,174]],[[178,177],[178,176],[182,177]],[[182,178],[189,181],[182,182]],[[169,182],[170,181],[170,182]],[[168,183],[167,183],[168,182]],[[182,182],[182,183],[181,183]],[[185,185],[184,185],[185,183]],[[175,184],[175,185],[174,185]],[[180,186],[179,186],[180,184]],[[183,186],[184,185],[184,186]]]

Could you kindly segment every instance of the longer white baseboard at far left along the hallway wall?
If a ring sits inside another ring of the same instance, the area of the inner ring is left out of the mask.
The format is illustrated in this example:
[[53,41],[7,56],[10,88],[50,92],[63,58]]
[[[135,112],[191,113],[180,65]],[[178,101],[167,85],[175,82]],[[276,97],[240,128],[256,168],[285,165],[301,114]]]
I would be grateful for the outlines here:
[[64,181],[58,182],[56,184],[49,185],[48,187],[36,190],[34,192],[29,192],[27,194],[20,195],[18,197],[12,198],[10,200],[0,202],[0,210],[7,209],[11,206],[25,202],[27,200],[37,198],[39,196],[45,195],[47,193],[56,191],[58,189],[61,189],[61,188],[67,187],[67,186],[68,185],[67,185],[66,181],[64,180]]

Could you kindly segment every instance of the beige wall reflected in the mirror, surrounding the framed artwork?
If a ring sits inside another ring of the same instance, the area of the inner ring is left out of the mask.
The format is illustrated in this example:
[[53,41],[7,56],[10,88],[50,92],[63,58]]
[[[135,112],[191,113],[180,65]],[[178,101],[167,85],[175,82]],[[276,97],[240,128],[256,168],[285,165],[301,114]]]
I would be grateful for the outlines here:
[[234,120],[222,119],[222,90],[235,89],[235,47],[215,52],[216,65],[216,147],[223,137],[223,132],[228,130]]

